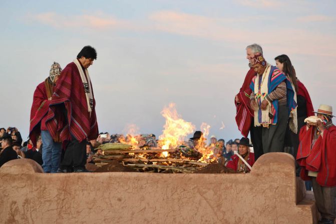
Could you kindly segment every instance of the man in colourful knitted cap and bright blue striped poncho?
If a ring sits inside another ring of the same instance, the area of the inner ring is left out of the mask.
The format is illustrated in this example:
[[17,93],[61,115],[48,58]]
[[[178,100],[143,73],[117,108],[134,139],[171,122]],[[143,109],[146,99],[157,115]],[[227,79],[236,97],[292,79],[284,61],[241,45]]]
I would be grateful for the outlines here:
[[257,73],[253,77],[250,105],[254,126],[262,126],[263,152],[282,152],[290,111],[295,109],[294,91],[286,76],[266,63],[262,54],[250,58]]

